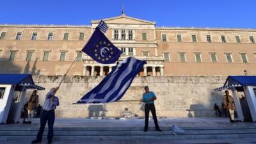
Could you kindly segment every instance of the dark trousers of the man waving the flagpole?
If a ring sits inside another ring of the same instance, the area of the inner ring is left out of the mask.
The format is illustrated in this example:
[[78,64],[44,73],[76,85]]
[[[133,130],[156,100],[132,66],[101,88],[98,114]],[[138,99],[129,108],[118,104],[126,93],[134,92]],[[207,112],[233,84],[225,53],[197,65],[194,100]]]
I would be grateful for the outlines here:
[[44,133],[44,128],[46,125],[46,122],[48,123],[48,135],[47,139],[52,140],[53,137],[53,124],[55,120],[55,112],[54,110],[52,111],[42,111],[41,116],[40,116],[40,129],[38,131],[38,134],[36,136],[36,139],[42,140],[42,136]]

